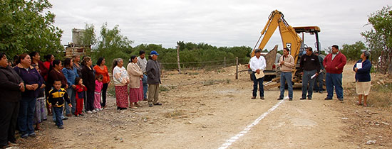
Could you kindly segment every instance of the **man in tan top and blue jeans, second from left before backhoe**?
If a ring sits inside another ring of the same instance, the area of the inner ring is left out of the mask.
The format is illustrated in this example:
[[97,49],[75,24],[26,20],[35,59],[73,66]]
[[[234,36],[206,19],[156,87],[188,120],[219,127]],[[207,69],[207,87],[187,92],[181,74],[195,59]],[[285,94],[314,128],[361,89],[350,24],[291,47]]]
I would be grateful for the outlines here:
[[280,62],[280,95],[278,100],[282,100],[284,96],[284,86],[287,82],[289,90],[289,101],[293,100],[293,83],[292,83],[292,70],[295,66],[294,57],[289,54],[290,49],[284,48],[283,55],[279,58]]

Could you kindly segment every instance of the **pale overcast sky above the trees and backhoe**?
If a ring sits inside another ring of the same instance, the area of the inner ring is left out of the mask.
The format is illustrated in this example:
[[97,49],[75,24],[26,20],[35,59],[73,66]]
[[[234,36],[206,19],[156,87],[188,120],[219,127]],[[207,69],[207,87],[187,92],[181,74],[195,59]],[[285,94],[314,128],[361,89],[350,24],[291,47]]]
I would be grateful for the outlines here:
[[[333,44],[353,44],[363,40],[360,33],[370,30],[368,16],[391,0],[320,0],[320,1],[249,1],[249,0],[144,0],[50,1],[56,14],[55,26],[61,28],[62,42],[71,42],[72,28],[84,28],[85,23],[96,27],[108,23],[119,25],[121,33],[133,40],[133,47],[141,43],[175,48],[182,40],[208,43],[215,46],[249,46],[257,42],[269,14],[278,10],[290,26],[319,26],[321,49]],[[314,35],[306,35],[305,43],[314,47]],[[276,31],[265,48],[272,49],[282,40]]]

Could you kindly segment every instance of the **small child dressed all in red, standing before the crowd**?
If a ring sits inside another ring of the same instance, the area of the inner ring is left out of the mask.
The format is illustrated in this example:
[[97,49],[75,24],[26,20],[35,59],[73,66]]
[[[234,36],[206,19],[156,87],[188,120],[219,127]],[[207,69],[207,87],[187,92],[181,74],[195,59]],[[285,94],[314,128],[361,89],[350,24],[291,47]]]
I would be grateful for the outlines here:
[[84,92],[87,91],[86,86],[83,85],[83,79],[81,77],[76,77],[75,78],[75,99],[76,99],[76,110],[75,110],[75,116],[84,116],[82,114],[83,111],[83,98],[84,98]]

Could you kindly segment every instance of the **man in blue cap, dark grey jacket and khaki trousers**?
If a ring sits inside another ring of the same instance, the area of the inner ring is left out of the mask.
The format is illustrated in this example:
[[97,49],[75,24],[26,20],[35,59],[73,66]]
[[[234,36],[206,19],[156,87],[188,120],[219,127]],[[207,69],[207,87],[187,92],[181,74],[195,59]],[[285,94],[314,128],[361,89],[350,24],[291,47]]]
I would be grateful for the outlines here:
[[148,83],[148,106],[161,106],[158,102],[159,95],[159,84],[160,84],[160,67],[157,61],[157,51],[153,50],[150,53],[151,58],[147,62],[145,72],[147,72],[147,83]]

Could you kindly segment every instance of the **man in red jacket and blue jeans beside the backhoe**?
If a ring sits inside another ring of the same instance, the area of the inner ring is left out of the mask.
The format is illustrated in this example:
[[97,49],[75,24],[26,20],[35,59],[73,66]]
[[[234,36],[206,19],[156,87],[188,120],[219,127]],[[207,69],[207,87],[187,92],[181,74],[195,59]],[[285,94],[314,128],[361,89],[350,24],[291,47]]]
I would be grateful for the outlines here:
[[332,53],[326,55],[323,65],[326,70],[326,100],[331,100],[334,96],[334,87],[336,96],[340,101],[343,101],[343,87],[341,85],[341,73],[343,72],[344,65],[346,65],[346,56],[339,53],[339,46],[332,45]]

